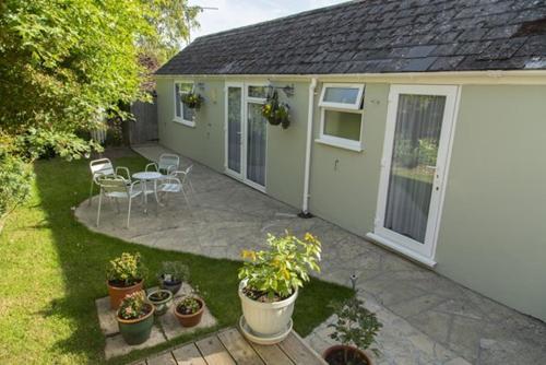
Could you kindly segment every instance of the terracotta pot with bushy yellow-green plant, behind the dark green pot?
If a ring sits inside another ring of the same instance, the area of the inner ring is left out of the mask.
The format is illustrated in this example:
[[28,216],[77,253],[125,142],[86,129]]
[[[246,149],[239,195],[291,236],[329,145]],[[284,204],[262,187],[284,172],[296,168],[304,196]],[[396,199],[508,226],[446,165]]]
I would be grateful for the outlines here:
[[139,252],[123,252],[110,261],[106,270],[106,284],[112,309],[117,309],[127,295],[142,291],[145,272]]

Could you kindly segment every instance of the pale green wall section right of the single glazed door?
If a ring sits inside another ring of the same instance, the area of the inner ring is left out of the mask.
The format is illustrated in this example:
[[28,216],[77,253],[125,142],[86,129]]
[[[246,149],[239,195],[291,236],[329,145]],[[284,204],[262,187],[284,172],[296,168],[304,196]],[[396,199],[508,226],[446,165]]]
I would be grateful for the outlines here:
[[463,86],[438,271],[546,320],[546,86]]

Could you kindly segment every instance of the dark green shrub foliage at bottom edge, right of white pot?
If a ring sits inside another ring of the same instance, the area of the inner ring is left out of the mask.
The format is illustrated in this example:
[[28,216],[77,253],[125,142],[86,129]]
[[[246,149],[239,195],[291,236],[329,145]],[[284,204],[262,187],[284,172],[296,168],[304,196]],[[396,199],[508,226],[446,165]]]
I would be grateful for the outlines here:
[[[382,327],[376,314],[368,310],[364,306],[364,302],[356,296],[344,302],[333,303],[331,307],[337,314],[337,321],[329,325],[334,329],[330,338],[345,346],[354,345],[361,351],[369,349],[376,355],[379,355],[378,349],[370,349]],[[347,348],[344,351],[344,358],[345,364],[351,364]]]

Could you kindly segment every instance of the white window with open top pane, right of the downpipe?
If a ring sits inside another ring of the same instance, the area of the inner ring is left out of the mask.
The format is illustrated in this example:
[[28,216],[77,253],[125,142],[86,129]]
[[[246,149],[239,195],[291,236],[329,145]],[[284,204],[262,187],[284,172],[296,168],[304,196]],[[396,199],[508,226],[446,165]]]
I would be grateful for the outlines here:
[[317,142],[361,151],[363,94],[364,85],[324,84]]

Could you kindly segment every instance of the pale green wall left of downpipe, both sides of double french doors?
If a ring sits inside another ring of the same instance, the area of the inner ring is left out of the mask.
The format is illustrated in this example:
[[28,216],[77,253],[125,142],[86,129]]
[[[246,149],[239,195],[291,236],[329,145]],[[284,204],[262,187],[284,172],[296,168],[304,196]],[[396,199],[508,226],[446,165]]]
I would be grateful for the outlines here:
[[[174,81],[157,81],[159,142],[165,146],[193,158],[217,172],[224,172],[225,163],[225,93],[223,80],[195,79],[202,89],[198,92],[205,102],[197,114],[195,127],[173,121]],[[278,91],[282,102],[290,105],[292,123],[283,130],[268,125],[266,192],[275,199],[300,208],[304,189],[304,167],[307,131],[308,83],[289,83],[294,96]],[[287,83],[273,83],[285,86]]]

